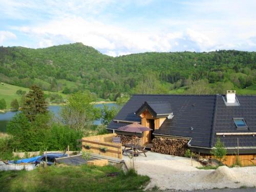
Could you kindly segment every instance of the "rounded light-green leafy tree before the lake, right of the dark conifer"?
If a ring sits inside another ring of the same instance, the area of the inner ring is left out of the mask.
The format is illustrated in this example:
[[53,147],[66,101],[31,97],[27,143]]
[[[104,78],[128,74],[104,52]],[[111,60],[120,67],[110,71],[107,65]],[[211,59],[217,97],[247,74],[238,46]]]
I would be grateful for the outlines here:
[[93,101],[95,96],[89,91],[72,94],[60,110],[61,120],[72,129],[86,131],[97,118]]

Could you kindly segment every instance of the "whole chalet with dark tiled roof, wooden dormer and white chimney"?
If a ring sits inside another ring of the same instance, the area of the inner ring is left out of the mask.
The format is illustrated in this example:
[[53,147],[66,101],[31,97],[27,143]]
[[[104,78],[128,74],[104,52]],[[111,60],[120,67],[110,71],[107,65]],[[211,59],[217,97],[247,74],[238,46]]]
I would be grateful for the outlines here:
[[[133,132],[137,126],[132,124],[148,130]],[[124,126],[129,131],[123,131]],[[186,139],[191,151],[208,155],[220,138],[228,164],[237,153],[256,163],[256,95],[133,95],[107,129],[136,135],[142,145],[158,137]]]

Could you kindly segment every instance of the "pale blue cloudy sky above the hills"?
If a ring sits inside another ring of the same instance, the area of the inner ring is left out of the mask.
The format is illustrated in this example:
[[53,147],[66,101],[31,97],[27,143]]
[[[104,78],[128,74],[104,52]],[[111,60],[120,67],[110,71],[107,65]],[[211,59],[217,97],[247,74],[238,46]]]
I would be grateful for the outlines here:
[[0,46],[82,42],[110,56],[256,51],[256,1],[0,0]]

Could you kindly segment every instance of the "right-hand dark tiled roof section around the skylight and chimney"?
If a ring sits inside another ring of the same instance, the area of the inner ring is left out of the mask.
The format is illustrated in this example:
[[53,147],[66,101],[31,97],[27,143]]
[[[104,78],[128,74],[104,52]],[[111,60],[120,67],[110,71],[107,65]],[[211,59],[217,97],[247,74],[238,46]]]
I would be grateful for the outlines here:
[[[214,127],[214,143],[219,137],[228,147],[256,146],[256,135],[216,136],[216,133],[256,132],[256,96],[237,96],[240,106],[226,106],[222,96],[217,102],[217,117]],[[233,118],[244,118],[248,129],[237,129]]]

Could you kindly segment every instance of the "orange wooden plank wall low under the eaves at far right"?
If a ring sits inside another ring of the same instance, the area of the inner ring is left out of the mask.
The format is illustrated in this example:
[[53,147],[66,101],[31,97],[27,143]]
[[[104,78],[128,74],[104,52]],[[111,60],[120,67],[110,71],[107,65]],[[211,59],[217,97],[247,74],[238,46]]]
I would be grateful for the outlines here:
[[[236,164],[236,161],[236,155],[227,155],[223,163],[228,166],[232,166],[233,164]],[[242,166],[256,165],[256,154],[239,155],[239,162]]]

